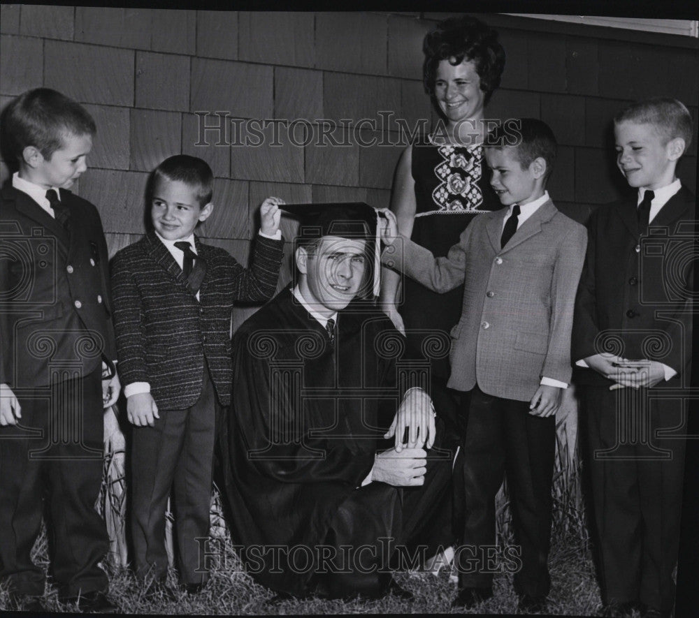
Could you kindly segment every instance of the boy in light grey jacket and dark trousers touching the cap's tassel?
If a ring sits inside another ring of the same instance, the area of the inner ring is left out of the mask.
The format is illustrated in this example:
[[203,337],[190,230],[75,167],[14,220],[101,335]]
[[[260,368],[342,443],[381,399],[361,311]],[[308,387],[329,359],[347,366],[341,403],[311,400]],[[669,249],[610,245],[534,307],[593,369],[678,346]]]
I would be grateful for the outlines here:
[[493,595],[485,550],[496,540],[495,497],[507,469],[521,546],[514,588],[521,610],[540,610],[551,585],[555,413],[572,372],[572,309],[586,233],[556,209],[545,189],[556,156],[545,123],[524,118],[503,125],[485,146],[491,186],[505,208],[477,216],[446,257],[435,259],[401,238],[382,262],[436,292],[464,284],[448,383],[468,393],[466,434],[454,466],[466,513],[463,545],[454,556],[454,606],[470,608]]

